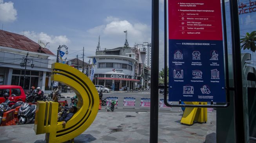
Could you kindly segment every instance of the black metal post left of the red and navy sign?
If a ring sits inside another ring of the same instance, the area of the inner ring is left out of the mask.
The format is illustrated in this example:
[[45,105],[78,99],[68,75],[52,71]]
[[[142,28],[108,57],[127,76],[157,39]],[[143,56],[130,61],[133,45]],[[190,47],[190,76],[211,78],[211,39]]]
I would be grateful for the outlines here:
[[158,74],[159,74],[159,0],[152,0],[152,66],[150,91],[150,135],[149,142],[158,142]]

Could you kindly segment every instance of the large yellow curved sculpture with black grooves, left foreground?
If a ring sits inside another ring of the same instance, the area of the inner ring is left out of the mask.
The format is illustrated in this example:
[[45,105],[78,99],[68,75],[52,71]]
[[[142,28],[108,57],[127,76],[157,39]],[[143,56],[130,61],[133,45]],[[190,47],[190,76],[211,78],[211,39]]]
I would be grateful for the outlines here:
[[34,131],[36,134],[46,133],[45,140],[48,143],[61,143],[80,135],[93,123],[98,113],[99,96],[93,82],[67,64],[52,64],[51,80],[61,82],[75,91],[78,111],[63,126],[62,122],[57,122],[58,103],[38,101]]

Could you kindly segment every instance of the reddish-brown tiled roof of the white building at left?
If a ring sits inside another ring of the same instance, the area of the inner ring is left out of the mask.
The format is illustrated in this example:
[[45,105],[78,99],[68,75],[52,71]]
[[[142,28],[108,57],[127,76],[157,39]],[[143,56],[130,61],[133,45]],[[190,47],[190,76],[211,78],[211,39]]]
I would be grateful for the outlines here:
[[39,51],[40,45],[31,39],[22,36],[20,34],[15,34],[0,30],[0,46],[15,48],[19,50],[25,50],[30,52],[40,52],[44,54],[54,55],[49,49],[42,48]]

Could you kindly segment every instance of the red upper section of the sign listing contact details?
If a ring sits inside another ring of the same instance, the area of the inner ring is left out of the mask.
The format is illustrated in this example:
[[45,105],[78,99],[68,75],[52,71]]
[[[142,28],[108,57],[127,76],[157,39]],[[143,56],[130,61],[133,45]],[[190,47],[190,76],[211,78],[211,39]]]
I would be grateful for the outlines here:
[[169,39],[222,40],[220,0],[169,0]]

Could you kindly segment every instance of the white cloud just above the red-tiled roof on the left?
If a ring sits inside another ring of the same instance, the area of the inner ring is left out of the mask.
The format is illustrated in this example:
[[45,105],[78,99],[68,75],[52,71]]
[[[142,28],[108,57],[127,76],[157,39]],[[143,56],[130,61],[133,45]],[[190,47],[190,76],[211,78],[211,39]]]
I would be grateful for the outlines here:
[[49,48],[51,51],[55,51],[56,48],[58,48],[59,45],[66,45],[70,43],[70,40],[65,35],[60,36],[49,36],[48,34],[44,32],[36,33],[34,31],[24,31],[24,36],[27,38],[33,40],[37,43],[38,39],[41,41],[49,44],[46,46],[46,48]]

